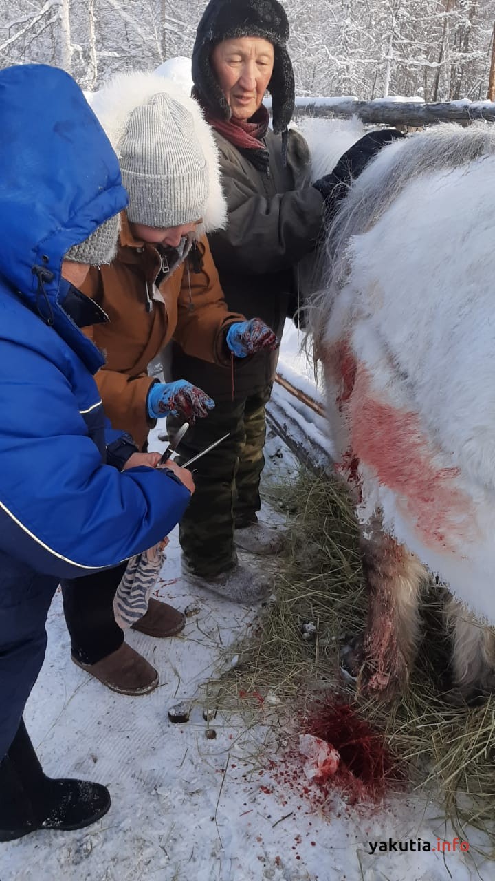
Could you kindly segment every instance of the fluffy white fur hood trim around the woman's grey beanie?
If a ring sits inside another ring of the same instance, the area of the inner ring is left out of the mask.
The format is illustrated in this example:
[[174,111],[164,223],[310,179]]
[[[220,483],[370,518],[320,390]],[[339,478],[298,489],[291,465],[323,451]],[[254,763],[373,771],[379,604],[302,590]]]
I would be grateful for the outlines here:
[[196,135],[203,148],[208,168],[210,192],[203,215],[203,230],[211,233],[222,229],[226,224],[226,202],[220,183],[218,149],[210,126],[203,118],[203,111],[194,98],[187,95],[181,85],[164,78],[159,73],[132,71],[118,74],[95,93],[92,109],[98,116],[107,136],[120,156],[122,137],[125,133],[129,115],[153,95],[165,92],[186,107],[194,120]]

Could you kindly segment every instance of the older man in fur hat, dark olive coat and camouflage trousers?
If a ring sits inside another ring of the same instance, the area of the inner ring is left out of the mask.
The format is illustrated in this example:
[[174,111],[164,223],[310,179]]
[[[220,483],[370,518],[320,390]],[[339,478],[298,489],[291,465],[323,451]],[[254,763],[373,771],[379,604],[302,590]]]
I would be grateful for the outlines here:
[[[211,0],[197,28],[192,68],[193,94],[214,130],[228,204],[226,228],[209,237],[225,300],[247,317],[260,315],[277,336],[297,301],[295,263],[314,249],[324,206],[318,189],[295,189],[288,36],[277,0]],[[262,105],[267,88],[273,130]],[[173,347],[172,377],[197,381],[216,402],[211,417],[186,435],[178,461],[231,433],[197,463],[196,493],[181,522],[183,571],[192,583],[240,602],[258,599],[259,589],[255,569],[239,564],[236,545],[269,554],[283,541],[256,516],[265,404],[276,365],[277,353],[261,353],[222,371]]]

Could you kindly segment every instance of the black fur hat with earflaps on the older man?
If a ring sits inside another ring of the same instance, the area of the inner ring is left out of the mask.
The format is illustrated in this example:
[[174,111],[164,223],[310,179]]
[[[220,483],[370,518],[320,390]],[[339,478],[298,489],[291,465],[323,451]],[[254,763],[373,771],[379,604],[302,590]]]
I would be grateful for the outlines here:
[[272,43],[275,63],[268,91],[272,99],[273,130],[284,133],[294,111],[294,71],[287,52],[289,21],[277,0],[210,0],[197,26],[192,74],[202,104],[229,120],[231,109],[211,68],[211,51],[236,37],[261,37]]

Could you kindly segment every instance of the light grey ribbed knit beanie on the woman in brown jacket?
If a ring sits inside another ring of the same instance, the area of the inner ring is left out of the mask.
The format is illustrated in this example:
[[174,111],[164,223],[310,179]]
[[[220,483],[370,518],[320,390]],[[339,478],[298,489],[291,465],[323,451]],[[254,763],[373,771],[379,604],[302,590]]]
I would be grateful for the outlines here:
[[166,229],[203,217],[208,170],[192,115],[159,93],[129,116],[119,149],[131,223]]

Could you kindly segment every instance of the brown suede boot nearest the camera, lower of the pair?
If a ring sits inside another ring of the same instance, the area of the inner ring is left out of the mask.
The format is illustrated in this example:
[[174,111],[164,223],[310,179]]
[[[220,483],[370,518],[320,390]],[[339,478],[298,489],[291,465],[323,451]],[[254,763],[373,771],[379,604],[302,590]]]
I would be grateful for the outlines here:
[[149,694],[159,684],[157,670],[127,642],[122,642],[121,648],[97,663],[83,663],[74,655],[72,661],[119,694]]

